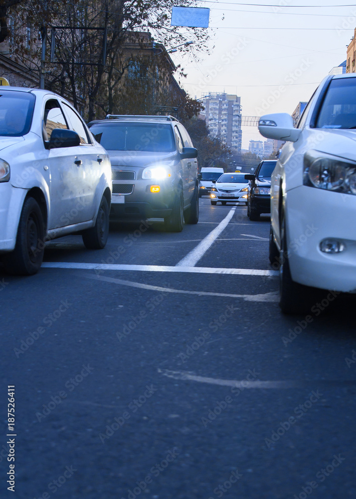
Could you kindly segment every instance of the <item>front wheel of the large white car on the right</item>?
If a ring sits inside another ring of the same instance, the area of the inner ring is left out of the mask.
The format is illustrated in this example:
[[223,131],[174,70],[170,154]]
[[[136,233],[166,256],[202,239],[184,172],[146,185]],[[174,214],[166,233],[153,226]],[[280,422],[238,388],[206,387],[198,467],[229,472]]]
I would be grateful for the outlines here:
[[307,314],[322,293],[321,289],[299,284],[292,279],[285,222],[281,228],[281,252],[279,267],[279,306],[284,314]]

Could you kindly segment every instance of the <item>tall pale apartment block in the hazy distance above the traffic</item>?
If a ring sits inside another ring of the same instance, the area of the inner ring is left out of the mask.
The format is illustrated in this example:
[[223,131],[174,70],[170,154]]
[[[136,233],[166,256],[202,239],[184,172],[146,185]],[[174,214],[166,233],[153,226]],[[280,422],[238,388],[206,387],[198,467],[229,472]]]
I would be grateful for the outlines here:
[[203,99],[206,125],[210,135],[220,137],[227,146],[241,152],[241,98],[237,95],[209,92]]

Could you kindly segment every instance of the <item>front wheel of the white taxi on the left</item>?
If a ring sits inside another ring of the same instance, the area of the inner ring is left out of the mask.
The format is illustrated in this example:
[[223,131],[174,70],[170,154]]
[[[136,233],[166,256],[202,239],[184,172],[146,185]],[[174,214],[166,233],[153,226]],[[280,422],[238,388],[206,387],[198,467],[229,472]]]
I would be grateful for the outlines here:
[[35,274],[42,263],[45,227],[43,215],[33,198],[25,199],[18,223],[15,249],[2,257],[8,273]]

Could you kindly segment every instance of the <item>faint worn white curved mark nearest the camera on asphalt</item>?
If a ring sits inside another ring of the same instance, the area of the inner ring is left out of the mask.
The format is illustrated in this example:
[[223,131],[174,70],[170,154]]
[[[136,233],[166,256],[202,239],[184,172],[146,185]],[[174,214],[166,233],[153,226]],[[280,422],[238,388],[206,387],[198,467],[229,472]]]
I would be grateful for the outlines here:
[[158,369],[158,372],[168,378],[182,381],[196,381],[197,383],[208,383],[209,385],[234,386],[237,388],[292,388],[298,386],[295,381],[247,381],[234,379],[208,378],[205,376],[196,376],[184,371],[170,371],[169,369]]

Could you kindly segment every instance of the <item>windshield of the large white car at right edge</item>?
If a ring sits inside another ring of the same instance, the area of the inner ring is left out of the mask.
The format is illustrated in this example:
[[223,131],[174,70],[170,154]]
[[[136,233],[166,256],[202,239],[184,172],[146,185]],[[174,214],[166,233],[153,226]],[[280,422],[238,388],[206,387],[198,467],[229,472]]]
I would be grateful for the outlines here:
[[317,128],[356,128],[356,78],[332,80]]

